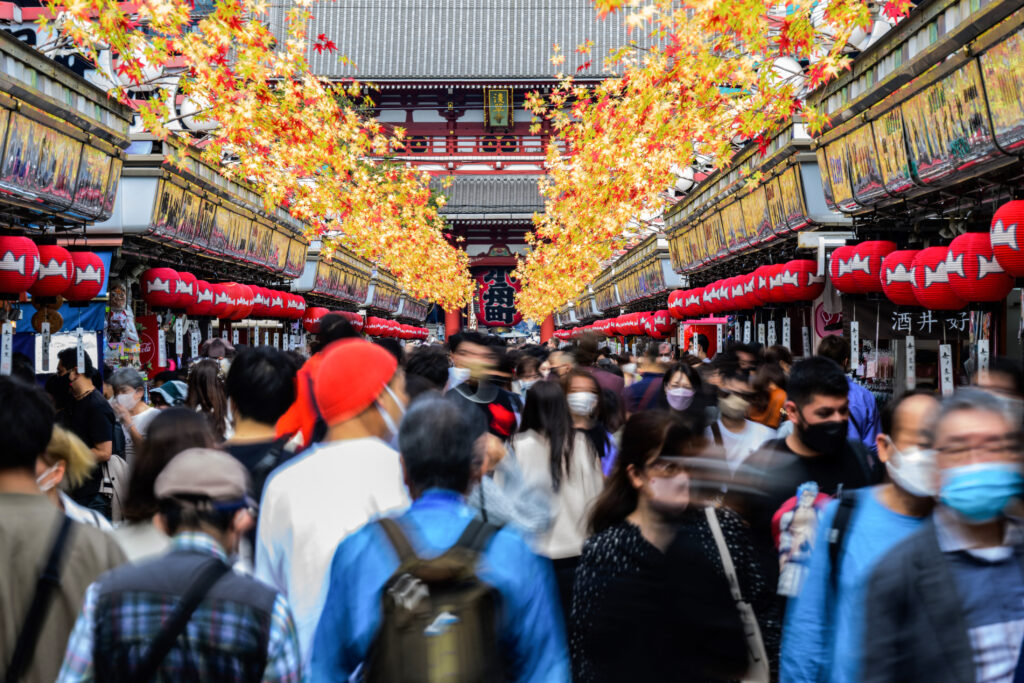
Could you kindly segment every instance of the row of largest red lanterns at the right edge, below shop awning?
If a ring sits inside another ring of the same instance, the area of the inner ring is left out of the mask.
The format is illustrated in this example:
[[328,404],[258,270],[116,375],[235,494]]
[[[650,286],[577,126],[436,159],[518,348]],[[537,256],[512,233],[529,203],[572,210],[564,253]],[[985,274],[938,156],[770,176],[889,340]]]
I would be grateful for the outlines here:
[[996,211],[990,232],[962,234],[948,247],[897,249],[888,241],[840,247],[828,264],[833,285],[845,294],[882,292],[899,306],[933,310],[1001,301],[1014,288],[1015,273],[1007,266],[1024,275],[1020,247],[1011,247],[1017,216],[1024,217],[1024,202]]

